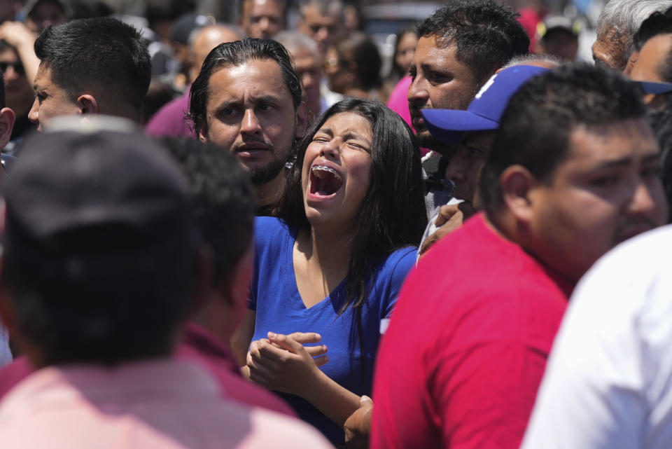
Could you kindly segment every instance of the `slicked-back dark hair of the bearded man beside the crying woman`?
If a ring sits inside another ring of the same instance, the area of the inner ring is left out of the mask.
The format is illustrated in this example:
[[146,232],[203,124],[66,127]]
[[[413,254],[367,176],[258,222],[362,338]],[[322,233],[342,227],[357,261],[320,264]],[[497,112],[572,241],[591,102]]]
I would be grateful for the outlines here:
[[294,109],[301,104],[301,83],[289,53],[281,43],[272,39],[243,39],[216,46],[205,58],[198,77],[191,85],[188,118],[194,130],[207,126],[206,109],[210,77],[222,67],[237,67],[250,60],[274,60],[280,67],[282,79],[292,95]]

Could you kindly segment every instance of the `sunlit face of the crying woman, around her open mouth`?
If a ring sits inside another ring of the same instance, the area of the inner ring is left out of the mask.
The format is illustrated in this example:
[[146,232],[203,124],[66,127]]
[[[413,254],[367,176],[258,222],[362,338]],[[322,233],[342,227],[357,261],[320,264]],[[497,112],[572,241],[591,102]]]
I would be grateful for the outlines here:
[[[306,216],[312,226],[351,229],[371,183],[372,132],[369,121],[358,113],[331,116],[314,135],[302,166],[302,188]],[[332,195],[311,189],[311,167],[330,167],[339,174],[342,186]]]

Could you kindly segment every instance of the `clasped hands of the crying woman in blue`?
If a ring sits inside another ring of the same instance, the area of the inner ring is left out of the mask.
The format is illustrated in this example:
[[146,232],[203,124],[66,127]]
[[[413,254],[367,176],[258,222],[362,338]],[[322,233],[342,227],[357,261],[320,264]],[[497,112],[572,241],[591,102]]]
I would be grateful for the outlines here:
[[317,343],[316,333],[293,333],[290,336],[268,333],[268,338],[255,340],[247,354],[249,379],[269,389],[297,394],[316,378],[319,367],[329,360],[326,345],[304,347]]

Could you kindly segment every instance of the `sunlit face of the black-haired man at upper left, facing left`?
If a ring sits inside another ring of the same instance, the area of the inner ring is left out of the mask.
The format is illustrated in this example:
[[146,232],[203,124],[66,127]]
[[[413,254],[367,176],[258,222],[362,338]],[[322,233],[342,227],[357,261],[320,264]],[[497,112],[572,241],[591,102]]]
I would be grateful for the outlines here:
[[52,118],[82,113],[77,100],[51,79],[51,70],[47,64],[40,64],[33,83],[35,100],[28,113],[31,122],[38,124],[38,131],[48,125]]

